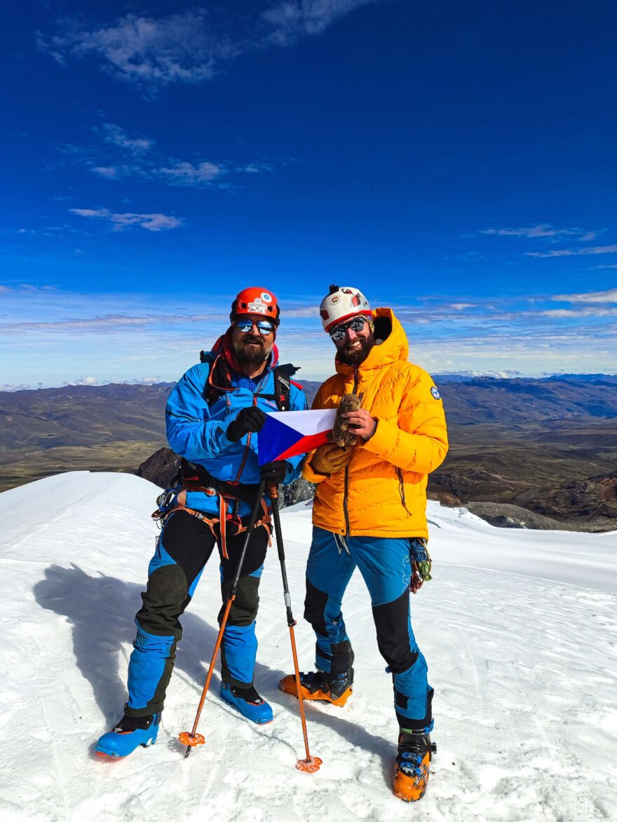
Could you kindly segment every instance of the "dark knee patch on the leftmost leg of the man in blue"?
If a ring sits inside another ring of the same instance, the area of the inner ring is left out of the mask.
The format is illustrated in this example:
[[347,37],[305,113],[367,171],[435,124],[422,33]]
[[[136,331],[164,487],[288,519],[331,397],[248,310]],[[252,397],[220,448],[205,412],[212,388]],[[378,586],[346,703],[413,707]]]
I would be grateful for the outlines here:
[[137,621],[149,634],[182,636],[179,616],[188,601],[187,578],[176,565],[162,566],[151,574],[148,587],[141,593],[143,605]]

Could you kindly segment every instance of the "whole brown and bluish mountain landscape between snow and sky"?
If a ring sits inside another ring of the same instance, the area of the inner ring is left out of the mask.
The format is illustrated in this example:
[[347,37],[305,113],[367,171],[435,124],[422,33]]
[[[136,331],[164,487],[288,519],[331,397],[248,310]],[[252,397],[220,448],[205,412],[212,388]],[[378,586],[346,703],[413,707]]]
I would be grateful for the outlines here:
[[[617,527],[617,376],[435,381],[450,451],[430,478],[432,496],[451,505],[520,506],[588,529]],[[304,381],[309,404],[319,385]],[[59,471],[137,469],[166,445],[173,386],[0,392],[0,490]]]

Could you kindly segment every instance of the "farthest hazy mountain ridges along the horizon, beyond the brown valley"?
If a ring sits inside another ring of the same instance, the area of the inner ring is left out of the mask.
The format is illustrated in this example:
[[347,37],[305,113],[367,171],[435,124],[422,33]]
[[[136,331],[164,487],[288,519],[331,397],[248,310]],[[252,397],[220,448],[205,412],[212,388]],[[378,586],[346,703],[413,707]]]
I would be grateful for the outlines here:
[[[443,381],[448,423],[520,425],[570,417],[617,417],[617,378],[593,380],[475,377]],[[0,392],[0,459],[5,450],[151,441],[165,436],[165,402],[174,383],[66,386]],[[305,381],[309,404],[320,383]]]

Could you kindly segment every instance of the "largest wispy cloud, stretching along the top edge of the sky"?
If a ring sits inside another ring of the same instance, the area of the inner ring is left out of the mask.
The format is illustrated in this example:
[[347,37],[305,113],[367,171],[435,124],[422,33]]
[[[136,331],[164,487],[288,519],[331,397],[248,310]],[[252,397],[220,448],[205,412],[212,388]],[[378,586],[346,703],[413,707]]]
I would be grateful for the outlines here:
[[146,96],[173,83],[202,83],[240,54],[320,35],[342,16],[377,0],[284,0],[239,21],[188,9],[165,17],[128,14],[109,25],[88,27],[67,18],[59,33],[37,34],[39,48],[64,64],[68,57],[95,58],[101,69],[141,88]]

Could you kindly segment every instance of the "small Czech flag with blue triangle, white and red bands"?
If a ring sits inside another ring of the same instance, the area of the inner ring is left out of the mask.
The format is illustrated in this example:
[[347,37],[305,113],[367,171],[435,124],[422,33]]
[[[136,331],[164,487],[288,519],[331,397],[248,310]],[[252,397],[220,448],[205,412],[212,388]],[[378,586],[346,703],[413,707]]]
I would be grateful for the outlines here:
[[267,413],[257,435],[259,464],[306,454],[325,445],[335,417],[336,409]]

